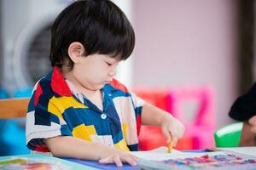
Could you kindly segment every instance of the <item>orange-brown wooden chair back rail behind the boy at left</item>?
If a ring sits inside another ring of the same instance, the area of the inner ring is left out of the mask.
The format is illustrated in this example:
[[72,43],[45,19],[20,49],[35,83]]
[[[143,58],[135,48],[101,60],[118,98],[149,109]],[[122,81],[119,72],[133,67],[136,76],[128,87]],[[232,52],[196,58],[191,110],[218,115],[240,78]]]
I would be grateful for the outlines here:
[[0,119],[25,117],[29,98],[0,99]]

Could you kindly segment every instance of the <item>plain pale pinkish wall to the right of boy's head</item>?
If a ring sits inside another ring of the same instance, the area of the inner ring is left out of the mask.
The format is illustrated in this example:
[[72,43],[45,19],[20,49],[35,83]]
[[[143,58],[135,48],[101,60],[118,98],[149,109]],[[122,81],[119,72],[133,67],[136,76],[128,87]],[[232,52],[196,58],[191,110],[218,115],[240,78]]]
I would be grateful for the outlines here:
[[212,86],[218,127],[236,98],[236,3],[134,0],[133,85]]

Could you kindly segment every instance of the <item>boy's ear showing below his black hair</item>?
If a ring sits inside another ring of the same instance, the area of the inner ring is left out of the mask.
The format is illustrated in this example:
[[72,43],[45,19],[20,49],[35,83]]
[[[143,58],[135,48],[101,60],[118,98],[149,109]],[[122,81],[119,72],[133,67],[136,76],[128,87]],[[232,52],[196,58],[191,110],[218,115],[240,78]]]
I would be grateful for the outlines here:
[[67,49],[67,53],[74,63],[79,63],[81,57],[84,55],[84,52],[84,46],[80,42],[72,42]]

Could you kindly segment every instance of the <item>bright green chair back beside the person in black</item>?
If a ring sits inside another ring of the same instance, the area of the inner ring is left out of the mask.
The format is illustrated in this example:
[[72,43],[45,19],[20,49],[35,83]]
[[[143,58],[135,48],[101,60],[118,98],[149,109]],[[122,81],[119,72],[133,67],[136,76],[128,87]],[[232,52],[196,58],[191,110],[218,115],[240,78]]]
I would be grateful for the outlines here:
[[219,128],[214,133],[216,147],[238,147],[242,122],[235,122]]

